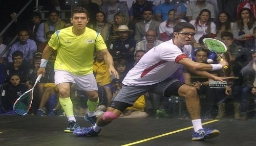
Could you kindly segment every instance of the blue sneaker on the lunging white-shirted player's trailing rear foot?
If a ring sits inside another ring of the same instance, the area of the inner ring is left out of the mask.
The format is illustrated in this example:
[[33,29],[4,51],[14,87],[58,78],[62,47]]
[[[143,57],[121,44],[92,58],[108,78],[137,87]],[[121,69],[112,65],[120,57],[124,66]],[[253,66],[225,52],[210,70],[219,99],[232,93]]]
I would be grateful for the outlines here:
[[99,132],[95,132],[93,130],[93,126],[91,126],[91,127],[82,127],[80,129],[76,129],[73,131],[73,134],[76,136],[97,136]]

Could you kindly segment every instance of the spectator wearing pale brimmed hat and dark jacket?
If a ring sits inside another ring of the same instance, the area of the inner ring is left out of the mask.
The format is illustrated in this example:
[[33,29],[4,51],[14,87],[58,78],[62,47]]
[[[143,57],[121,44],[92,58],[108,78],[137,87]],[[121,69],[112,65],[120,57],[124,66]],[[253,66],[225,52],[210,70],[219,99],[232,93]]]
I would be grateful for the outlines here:
[[116,38],[111,42],[109,51],[113,56],[114,61],[117,59],[124,59],[127,61],[127,69],[131,69],[134,63],[134,51],[136,47],[136,41],[132,40],[129,35],[133,34],[133,30],[130,30],[127,26],[121,25],[114,32],[119,38]]

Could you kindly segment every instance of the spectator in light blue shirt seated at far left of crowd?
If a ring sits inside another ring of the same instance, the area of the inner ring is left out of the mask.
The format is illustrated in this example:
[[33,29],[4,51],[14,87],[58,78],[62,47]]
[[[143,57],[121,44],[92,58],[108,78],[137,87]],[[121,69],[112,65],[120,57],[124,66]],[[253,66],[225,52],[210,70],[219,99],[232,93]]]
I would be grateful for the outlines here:
[[23,53],[24,59],[29,61],[30,64],[33,63],[33,56],[37,50],[35,41],[29,39],[29,32],[27,30],[20,30],[18,32],[18,39],[16,43],[11,46],[8,62],[12,63],[12,53],[15,51],[21,51]]

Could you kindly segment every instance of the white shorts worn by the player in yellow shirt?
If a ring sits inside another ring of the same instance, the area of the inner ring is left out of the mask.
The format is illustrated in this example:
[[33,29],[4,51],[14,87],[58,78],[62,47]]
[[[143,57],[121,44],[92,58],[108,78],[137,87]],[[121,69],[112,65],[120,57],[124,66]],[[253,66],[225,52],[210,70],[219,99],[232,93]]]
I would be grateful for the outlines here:
[[65,70],[54,70],[54,82],[59,83],[75,83],[77,90],[94,91],[98,90],[97,82],[93,74],[76,76]]

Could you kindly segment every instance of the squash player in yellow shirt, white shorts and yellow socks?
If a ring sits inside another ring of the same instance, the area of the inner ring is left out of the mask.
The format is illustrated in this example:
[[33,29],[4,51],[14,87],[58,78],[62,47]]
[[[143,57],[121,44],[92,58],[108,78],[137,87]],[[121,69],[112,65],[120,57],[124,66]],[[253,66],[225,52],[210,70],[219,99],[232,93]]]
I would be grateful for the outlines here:
[[44,52],[37,75],[45,74],[45,66],[53,50],[57,51],[54,64],[55,84],[59,90],[59,102],[65,111],[69,125],[65,132],[73,132],[80,128],[73,113],[73,104],[70,100],[71,84],[76,84],[76,89],[84,90],[89,100],[88,112],[84,119],[94,125],[96,116],[94,111],[98,105],[97,83],[93,76],[94,52],[100,51],[104,55],[105,62],[109,65],[109,71],[119,79],[113,65],[113,58],[101,35],[87,28],[89,13],[84,8],[76,8],[72,12],[72,27],[56,31]]

